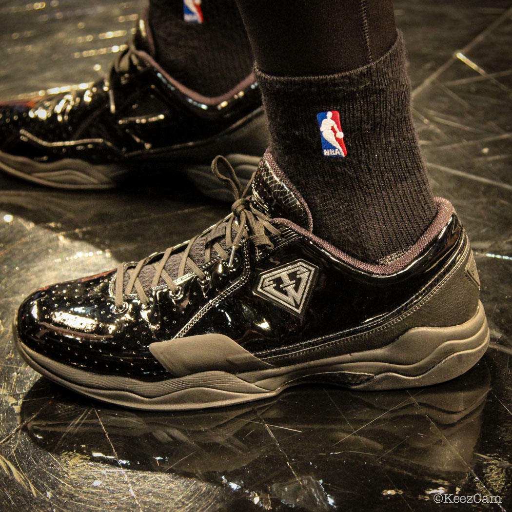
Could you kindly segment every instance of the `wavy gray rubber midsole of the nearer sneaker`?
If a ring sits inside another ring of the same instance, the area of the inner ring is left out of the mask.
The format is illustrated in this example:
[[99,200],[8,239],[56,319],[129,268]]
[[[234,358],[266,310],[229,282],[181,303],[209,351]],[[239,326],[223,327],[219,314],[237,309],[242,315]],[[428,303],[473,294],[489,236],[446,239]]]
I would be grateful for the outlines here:
[[[128,377],[84,372],[53,361],[29,349],[23,343],[18,342],[18,348],[37,371],[89,396],[123,402],[132,407],[137,407],[137,402],[140,402],[139,407],[145,407],[143,403],[156,401],[161,406],[185,409],[211,405],[212,403],[200,399],[201,396],[206,398],[205,394],[215,396],[214,405],[247,401],[271,396],[293,380],[325,373],[352,372],[374,376],[394,374],[400,379],[405,379],[410,386],[424,385],[421,381],[415,382],[415,379],[419,379],[454,355],[463,356],[464,364],[457,363],[460,373],[473,366],[485,351],[488,336],[485,312],[480,303],[475,316],[464,324],[453,327],[417,327],[380,349],[237,375],[222,371],[206,371],[159,382],[143,382]],[[451,369],[450,376],[444,380],[456,376],[454,373],[457,372],[457,368]],[[438,381],[442,380],[440,377]],[[402,386],[395,383],[390,387]],[[353,388],[365,389],[365,386]],[[379,386],[366,388],[390,389]],[[197,394],[197,390],[203,391]],[[183,396],[186,395],[183,393],[186,391],[194,391],[195,395]],[[113,395],[119,395],[119,398],[114,399]],[[121,399],[123,396],[124,399]],[[211,399],[210,396],[210,402]]]

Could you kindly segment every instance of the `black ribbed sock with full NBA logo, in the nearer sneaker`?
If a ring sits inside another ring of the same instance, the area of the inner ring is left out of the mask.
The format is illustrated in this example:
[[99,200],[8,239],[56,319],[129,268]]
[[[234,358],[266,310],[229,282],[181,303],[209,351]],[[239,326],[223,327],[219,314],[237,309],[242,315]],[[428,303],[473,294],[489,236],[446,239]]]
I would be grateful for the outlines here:
[[[280,77],[257,69],[257,79],[272,154],[311,208],[315,234],[367,262],[393,259],[416,242],[436,207],[411,117],[402,37],[353,71]],[[332,127],[331,144],[321,125],[337,121],[336,113],[344,136]]]

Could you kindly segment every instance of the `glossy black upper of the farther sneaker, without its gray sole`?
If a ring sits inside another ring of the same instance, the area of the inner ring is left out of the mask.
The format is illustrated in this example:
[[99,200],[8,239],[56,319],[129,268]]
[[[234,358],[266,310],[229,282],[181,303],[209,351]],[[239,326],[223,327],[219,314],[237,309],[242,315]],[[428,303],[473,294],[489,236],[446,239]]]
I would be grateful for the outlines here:
[[[146,49],[140,31],[134,41]],[[0,103],[0,151],[36,162],[129,164],[184,149],[183,159],[197,143],[261,114],[259,88],[250,79],[230,97],[205,104],[133,45],[116,61],[125,59],[123,71],[113,68],[109,78],[84,91]]]

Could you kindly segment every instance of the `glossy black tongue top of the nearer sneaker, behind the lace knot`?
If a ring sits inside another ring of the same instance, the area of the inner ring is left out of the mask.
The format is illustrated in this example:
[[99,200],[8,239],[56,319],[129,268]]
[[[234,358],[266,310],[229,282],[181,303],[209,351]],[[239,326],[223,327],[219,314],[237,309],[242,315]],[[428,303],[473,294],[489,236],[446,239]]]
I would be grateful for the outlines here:
[[311,212],[297,189],[290,183],[267,151],[251,182],[251,200],[270,218],[284,218],[312,231]]

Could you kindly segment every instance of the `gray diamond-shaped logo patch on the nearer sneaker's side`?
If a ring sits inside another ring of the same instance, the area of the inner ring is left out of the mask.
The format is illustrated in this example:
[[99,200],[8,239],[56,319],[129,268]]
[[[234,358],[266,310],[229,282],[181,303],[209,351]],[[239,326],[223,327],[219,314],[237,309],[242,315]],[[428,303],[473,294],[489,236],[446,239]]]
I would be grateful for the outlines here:
[[260,274],[254,293],[302,318],[318,277],[318,267],[304,260]]

